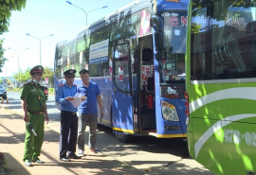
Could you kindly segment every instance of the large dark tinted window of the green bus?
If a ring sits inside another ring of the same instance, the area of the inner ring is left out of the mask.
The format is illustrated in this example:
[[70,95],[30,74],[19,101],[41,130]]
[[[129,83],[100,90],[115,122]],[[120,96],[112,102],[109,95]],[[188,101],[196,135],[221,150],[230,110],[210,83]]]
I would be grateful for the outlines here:
[[255,78],[255,7],[221,3],[192,12],[192,80]]

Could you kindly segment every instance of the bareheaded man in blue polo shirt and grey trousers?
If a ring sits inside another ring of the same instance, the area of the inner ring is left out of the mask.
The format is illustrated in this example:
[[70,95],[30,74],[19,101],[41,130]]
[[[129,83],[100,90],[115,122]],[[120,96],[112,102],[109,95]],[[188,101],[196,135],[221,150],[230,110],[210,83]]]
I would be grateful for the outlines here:
[[101,117],[103,117],[104,113],[101,92],[98,84],[90,81],[88,70],[82,69],[79,74],[80,78],[82,79],[82,86],[78,87],[78,93],[84,93],[84,96],[86,96],[86,99],[82,101],[82,104],[79,106],[78,114],[78,148],[79,155],[83,156],[84,131],[87,123],[89,123],[90,127],[88,142],[88,147],[91,151],[90,153],[95,154],[99,152],[99,150],[95,149],[97,141],[96,129],[98,125],[97,102],[101,109]]

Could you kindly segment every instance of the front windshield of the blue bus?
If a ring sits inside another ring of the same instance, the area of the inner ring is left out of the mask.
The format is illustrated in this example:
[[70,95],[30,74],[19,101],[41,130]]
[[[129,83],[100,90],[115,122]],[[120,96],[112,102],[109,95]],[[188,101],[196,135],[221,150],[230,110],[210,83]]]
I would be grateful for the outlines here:
[[161,13],[167,59],[159,61],[160,83],[184,81],[187,11]]

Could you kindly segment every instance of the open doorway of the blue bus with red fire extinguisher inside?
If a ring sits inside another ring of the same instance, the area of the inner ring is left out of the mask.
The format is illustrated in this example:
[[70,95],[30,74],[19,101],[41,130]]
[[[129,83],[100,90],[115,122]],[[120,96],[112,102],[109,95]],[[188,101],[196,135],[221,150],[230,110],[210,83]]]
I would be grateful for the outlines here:
[[139,38],[138,47],[138,124],[141,130],[141,134],[155,135],[155,64],[152,35]]

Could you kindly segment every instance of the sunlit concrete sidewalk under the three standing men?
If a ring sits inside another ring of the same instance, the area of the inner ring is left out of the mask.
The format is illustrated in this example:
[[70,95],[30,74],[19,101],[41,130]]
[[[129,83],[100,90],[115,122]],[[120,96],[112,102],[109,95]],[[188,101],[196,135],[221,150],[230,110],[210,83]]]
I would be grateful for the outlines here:
[[[24,165],[23,151],[25,123],[19,114],[10,114],[0,109],[0,151],[4,152],[8,165],[5,174],[88,174],[88,175],[134,175],[147,174],[133,166],[120,162],[110,156],[85,156],[81,160],[64,163],[59,161],[59,136],[57,131],[49,127],[45,129],[45,141],[40,159],[45,164]],[[4,174],[3,172],[0,174]]]

